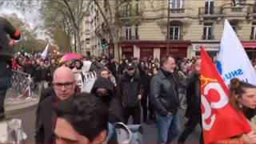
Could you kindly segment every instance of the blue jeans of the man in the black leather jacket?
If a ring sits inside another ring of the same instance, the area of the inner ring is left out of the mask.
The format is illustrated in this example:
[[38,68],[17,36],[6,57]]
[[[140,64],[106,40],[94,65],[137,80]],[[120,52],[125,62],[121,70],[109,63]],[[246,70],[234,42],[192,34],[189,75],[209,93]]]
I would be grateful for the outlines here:
[[158,126],[158,143],[173,141],[181,130],[178,114],[162,117],[155,113],[155,118]]

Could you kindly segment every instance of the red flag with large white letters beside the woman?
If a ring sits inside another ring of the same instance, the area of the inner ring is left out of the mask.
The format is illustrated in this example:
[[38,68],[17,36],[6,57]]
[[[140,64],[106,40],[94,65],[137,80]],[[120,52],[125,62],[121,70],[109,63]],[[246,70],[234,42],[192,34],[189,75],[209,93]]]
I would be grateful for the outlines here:
[[201,107],[203,138],[216,142],[250,132],[250,124],[242,113],[234,110],[228,99],[228,88],[214,63],[201,46]]

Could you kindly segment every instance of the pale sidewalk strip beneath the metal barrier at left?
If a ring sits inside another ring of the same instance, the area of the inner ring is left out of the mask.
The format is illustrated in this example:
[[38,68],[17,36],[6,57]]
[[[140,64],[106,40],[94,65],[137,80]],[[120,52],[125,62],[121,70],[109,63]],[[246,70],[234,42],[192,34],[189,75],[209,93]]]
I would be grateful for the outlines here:
[[38,106],[39,95],[33,93],[32,99],[25,97],[17,98],[18,92],[15,90],[8,90],[5,99],[6,114],[14,115],[21,114],[26,110],[35,109]]

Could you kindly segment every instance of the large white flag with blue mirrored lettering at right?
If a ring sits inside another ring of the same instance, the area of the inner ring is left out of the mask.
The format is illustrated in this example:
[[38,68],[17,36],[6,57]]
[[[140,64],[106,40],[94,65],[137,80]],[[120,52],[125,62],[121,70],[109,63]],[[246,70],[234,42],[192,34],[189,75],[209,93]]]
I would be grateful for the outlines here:
[[256,84],[256,73],[230,23],[225,20],[221,47],[218,53],[218,72],[222,75],[226,86],[230,86],[231,78],[239,78],[244,82]]

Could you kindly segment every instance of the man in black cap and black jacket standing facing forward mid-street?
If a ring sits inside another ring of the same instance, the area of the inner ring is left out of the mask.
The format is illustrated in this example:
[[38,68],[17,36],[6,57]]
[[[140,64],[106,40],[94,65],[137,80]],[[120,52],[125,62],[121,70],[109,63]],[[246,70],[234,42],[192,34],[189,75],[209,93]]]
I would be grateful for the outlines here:
[[126,72],[118,82],[117,97],[122,102],[124,123],[127,124],[130,115],[134,124],[141,123],[140,100],[142,99],[143,86],[140,78],[135,74],[135,66],[128,63]]

